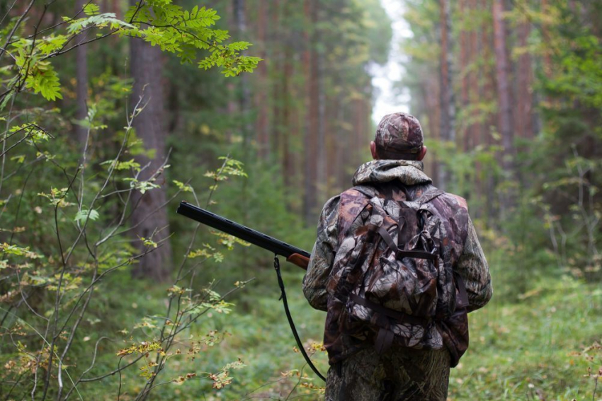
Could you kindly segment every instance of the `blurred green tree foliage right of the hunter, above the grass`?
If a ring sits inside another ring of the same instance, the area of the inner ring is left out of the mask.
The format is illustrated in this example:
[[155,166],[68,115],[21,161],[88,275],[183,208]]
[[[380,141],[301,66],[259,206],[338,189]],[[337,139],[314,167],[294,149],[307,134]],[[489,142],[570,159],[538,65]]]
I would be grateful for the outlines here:
[[[504,296],[516,300],[518,294],[535,286],[533,275],[600,279],[602,262],[596,244],[602,240],[597,174],[601,168],[598,86],[602,82],[602,44],[600,33],[584,20],[595,21],[601,9],[593,4],[528,0],[514,1],[509,7],[505,23],[512,32],[506,37],[511,61],[523,68],[518,57],[528,55],[535,70],[534,110],[526,118],[534,127],[541,124],[532,139],[516,138],[516,155],[509,156],[494,126],[496,95],[487,93],[495,92],[488,82],[496,78],[494,52],[480,42],[477,54],[472,49],[474,38],[470,38],[492,37],[490,3],[477,8],[464,4],[462,12],[458,4],[450,4],[451,40],[458,60],[453,74],[458,138],[455,144],[441,144],[428,134],[426,139],[439,168],[453,176],[445,189],[465,197],[471,216],[482,226],[479,234],[484,231],[489,240],[497,238],[498,246],[506,250],[508,262],[504,265],[511,273],[497,291],[501,286]],[[438,130],[438,117],[430,106],[438,93],[429,91],[438,90],[431,80],[441,78],[441,4],[408,1],[404,18],[413,35],[402,42],[409,55],[402,85],[409,88],[411,110],[419,115],[423,127]],[[518,43],[519,28],[525,25],[530,27],[530,36],[526,43]],[[466,57],[460,47],[472,53],[470,60],[458,59]],[[511,80],[516,86],[523,85],[516,82],[516,68]],[[474,84],[478,87],[470,87]],[[521,110],[513,112],[520,115]],[[504,158],[512,159],[511,170],[502,168],[509,161]]]

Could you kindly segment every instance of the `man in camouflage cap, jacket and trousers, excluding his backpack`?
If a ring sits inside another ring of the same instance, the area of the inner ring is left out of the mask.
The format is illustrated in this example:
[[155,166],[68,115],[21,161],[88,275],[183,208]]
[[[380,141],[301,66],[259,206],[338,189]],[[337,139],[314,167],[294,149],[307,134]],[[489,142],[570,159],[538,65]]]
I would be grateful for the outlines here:
[[[374,160],[358,168],[353,176],[354,186],[373,188],[377,196],[385,197],[386,193],[398,202],[411,201],[427,190],[436,190],[423,171],[426,146],[415,117],[402,112],[383,117],[370,143],[370,151]],[[327,312],[324,346],[331,368],[326,379],[326,400],[444,401],[450,366],[458,364],[468,346],[466,311],[481,308],[492,296],[489,267],[466,202],[461,197],[443,193],[432,206],[443,226],[448,228],[441,240],[445,245],[441,245],[443,260],[446,267],[462,277],[467,308],[433,325],[440,340],[434,343],[433,349],[393,346],[380,353],[373,339],[358,339],[345,332],[342,326],[348,315],[344,301],[337,300],[334,291],[336,272],[332,267],[339,244],[358,216],[358,202],[362,202],[346,199],[359,197],[360,192],[352,188],[326,202],[303,279],[303,292],[309,303]]]

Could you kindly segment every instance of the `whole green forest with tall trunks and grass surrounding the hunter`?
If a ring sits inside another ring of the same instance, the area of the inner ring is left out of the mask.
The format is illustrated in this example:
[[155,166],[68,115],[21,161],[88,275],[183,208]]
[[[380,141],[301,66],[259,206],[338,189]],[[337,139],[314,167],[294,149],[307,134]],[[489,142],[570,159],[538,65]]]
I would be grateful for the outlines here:
[[[311,251],[391,63],[492,275],[448,400],[602,400],[601,21],[599,0],[0,0],[0,400],[324,399],[271,252],[176,208]],[[280,262],[325,375],[325,313]]]

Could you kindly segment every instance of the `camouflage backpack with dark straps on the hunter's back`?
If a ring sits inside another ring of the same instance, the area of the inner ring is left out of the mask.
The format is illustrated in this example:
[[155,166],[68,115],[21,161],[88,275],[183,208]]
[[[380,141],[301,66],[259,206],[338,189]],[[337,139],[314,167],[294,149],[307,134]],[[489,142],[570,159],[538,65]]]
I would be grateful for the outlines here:
[[333,294],[346,307],[343,332],[373,339],[380,352],[392,344],[443,347],[437,322],[468,303],[462,279],[443,261],[442,223],[429,211],[443,192],[432,188],[397,202],[353,189],[366,196],[365,207],[346,229],[333,266]]

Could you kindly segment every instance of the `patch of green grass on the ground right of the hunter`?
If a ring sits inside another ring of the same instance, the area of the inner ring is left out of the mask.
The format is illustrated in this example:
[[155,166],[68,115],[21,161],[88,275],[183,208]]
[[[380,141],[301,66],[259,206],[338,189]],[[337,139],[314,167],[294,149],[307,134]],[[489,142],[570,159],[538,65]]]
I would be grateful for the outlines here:
[[[494,266],[498,282],[500,269]],[[601,291],[569,277],[533,287],[520,303],[496,296],[470,315],[470,348],[450,375],[453,400],[598,399]]]

